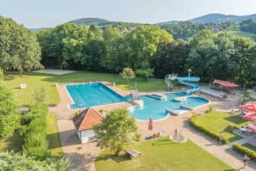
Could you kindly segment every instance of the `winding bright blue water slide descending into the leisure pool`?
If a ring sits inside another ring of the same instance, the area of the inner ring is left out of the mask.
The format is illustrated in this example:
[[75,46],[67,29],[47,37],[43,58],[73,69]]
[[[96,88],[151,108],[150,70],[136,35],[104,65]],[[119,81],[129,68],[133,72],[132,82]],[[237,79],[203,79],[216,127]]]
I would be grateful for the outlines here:
[[191,92],[196,92],[200,89],[200,86],[192,83],[192,82],[198,82],[200,80],[199,77],[177,77],[176,79],[182,85],[193,87],[192,89],[187,89],[188,94],[190,94]]

